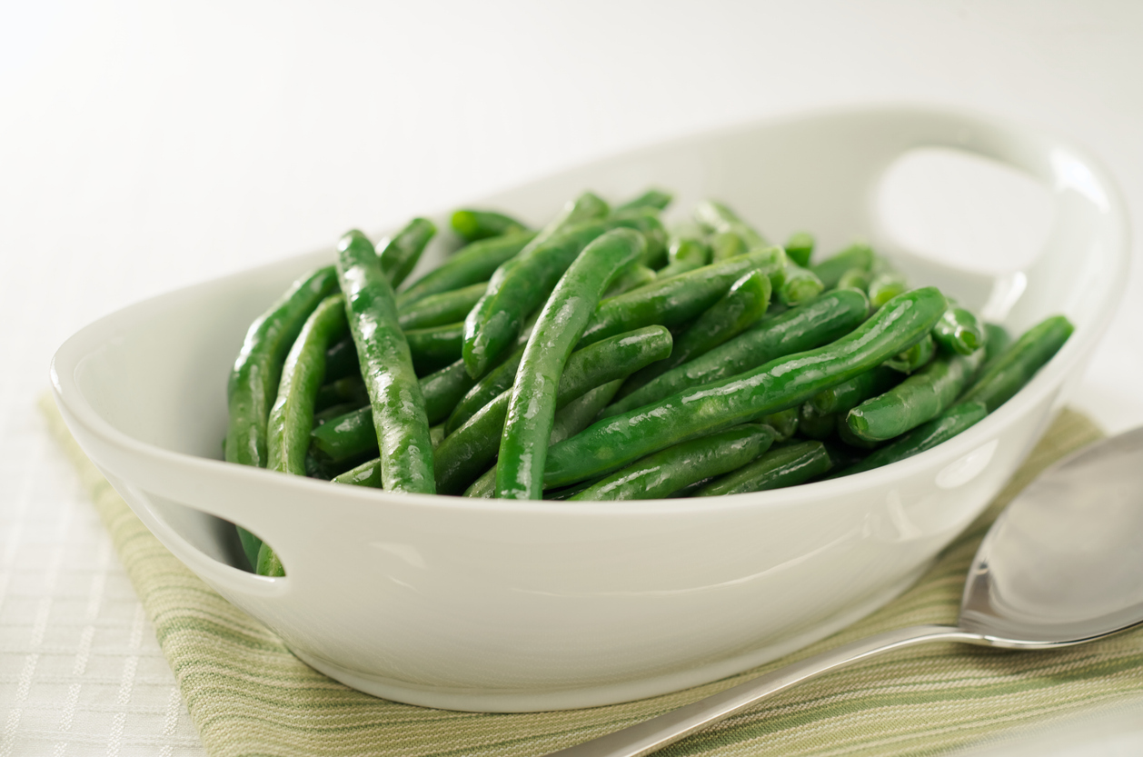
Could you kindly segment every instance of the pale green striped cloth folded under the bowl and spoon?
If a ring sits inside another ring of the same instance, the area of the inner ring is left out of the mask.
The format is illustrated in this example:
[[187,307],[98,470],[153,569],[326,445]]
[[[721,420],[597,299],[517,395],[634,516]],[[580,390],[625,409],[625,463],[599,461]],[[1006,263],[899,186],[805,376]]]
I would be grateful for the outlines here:
[[[989,524],[1045,465],[1100,437],[1064,412],[997,501],[903,596],[783,660],[655,699],[563,712],[480,715],[361,694],[297,660],[155,540],[87,460],[50,400],[75,463],[138,591],[207,751],[216,757],[531,757],[568,747],[861,637],[957,617],[965,571]],[[1143,632],[1054,652],[922,645],[798,686],[663,750],[679,755],[941,755],[1081,708],[1143,701]]]

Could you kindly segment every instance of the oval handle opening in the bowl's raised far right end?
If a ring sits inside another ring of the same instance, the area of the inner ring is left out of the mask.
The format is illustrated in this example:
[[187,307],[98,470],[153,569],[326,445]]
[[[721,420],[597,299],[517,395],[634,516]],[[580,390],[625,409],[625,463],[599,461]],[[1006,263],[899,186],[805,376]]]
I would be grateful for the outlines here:
[[1052,192],[1029,174],[950,148],[903,153],[873,201],[882,233],[901,252],[984,274],[1030,266],[1055,215]]

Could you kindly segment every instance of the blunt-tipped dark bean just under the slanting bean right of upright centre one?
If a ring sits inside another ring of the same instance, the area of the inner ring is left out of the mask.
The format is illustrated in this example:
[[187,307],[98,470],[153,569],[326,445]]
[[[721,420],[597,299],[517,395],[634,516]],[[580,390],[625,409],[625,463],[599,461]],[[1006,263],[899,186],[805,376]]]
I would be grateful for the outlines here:
[[770,302],[770,279],[762,271],[745,273],[730,285],[722,297],[706,309],[678,338],[671,357],[631,375],[621,396],[632,393],[656,376],[688,360],[710,352],[756,324]]

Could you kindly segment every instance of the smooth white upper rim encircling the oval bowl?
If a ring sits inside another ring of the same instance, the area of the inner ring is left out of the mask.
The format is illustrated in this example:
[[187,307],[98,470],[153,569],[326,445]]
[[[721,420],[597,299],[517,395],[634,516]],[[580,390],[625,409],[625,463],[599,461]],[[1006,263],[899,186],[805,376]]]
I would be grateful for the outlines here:
[[[1033,405],[1042,401],[1054,389],[1062,383],[1064,376],[1074,367],[1077,361],[1095,344],[1106,330],[1122,298],[1127,284],[1127,272],[1130,266],[1130,234],[1125,212],[1125,204],[1119,186],[1111,177],[1103,165],[1093,158],[1087,151],[1080,149],[1070,141],[1062,140],[1055,135],[1040,129],[1024,127],[1007,119],[984,115],[970,110],[934,106],[928,104],[881,104],[864,106],[839,106],[830,109],[815,109],[798,111],[780,117],[762,119],[751,119],[729,126],[713,129],[696,129],[682,136],[664,138],[655,143],[638,146],[629,150],[613,150],[601,157],[581,161],[555,170],[546,172],[542,176],[537,175],[526,178],[511,186],[498,186],[486,192],[486,197],[494,197],[498,193],[521,190],[535,182],[558,176],[565,173],[588,172],[596,167],[601,167],[610,161],[624,157],[638,156],[642,152],[657,152],[671,148],[681,148],[692,142],[713,141],[721,137],[746,134],[757,129],[773,127],[797,121],[817,120],[836,117],[893,114],[903,115],[938,115],[965,121],[978,122],[988,127],[1000,127],[1015,130],[1029,137],[1047,140],[1050,143],[1066,146],[1068,151],[1082,160],[1098,181],[1106,199],[1106,216],[1114,226],[1120,241],[1119,249],[1113,250],[1116,270],[1110,271],[1110,284],[1108,285],[1106,303],[1095,316],[1092,322],[1077,326],[1076,333],[1037,374],[1023,387],[1014,397],[999,408],[990,413],[978,423],[952,439],[944,441],[932,449],[917,454],[906,460],[902,460],[882,468],[855,473],[840,479],[815,481],[799,486],[773,489],[767,492],[748,492],[743,494],[726,495],[720,497],[681,497],[681,499],[648,499],[648,500],[620,500],[620,501],[585,501],[566,502],[559,500],[544,500],[543,507],[536,507],[534,501],[528,500],[495,500],[473,499],[464,496],[450,496],[439,494],[407,494],[397,492],[385,492],[358,486],[337,487],[326,507],[336,507],[339,501],[369,503],[373,505],[384,503],[387,507],[413,507],[432,508],[435,511],[486,511],[489,513],[526,513],[528,516],[543,517],[631,517],[646,513],[700,513],[700,512],[725,512],[741,509],[782,509],[788,507],[806,507],[814,502],[831,500],[838,494],[846,492],[860,493],[869,489],[880,488],[896,481],[908,479],[916,473],[937,465],[946,465],[950,462],[973,452],[988,444],[991,439],[1000,435],[1005,429],[1013,425],[1023,417],[1025,412]],[[431,217],[443,217],[448,210],[440,210],[427,214]],[[209,279],[185,287],[178,287],[162,294],[154,295],[141,302],[129,304],[120,310],[103,316],[88,324],[56,350],[51,358],[49,375],[53,395],[57,406],[64,413],[70,424],[79,423],[85,430],[109,445],[119,447],[126,452],[167,463],[170,467],[182,468],[189,472],[200,475],[254,477],[250,483],[269,481],[259,477],[275,477],[275,485],[288,485],[291,487],[318,487],[315,493],[330,494],[328,481],[310,479],[306,477],[289,476],[265,469],[255,469],[242,465],[233,465],[221,460],[200,457],[182,452],[166,449],[127,435],[106,421],[87,401],[83,392],[75,380],[75,369],[87,354],[97,349],[98,344],[106,342],[106,336],[117,333],[122,321],[131,321],[139,314],[153,310],[157,306],[174,304],[177,300],[193,296],[202,289],[210,289],[227,281],[237,281],[258,272],[269,270],[280,270],[289,265],[301,266],[321,256],[328,261],[333,254],[333,246],[318,250],[311,250],[299,255],[290,255],[278,261],[264,263],[254,268],[226,276]],[[318,263],[321,264],[321,263]],[[1081,338],[1077,338],[1077,336]]]

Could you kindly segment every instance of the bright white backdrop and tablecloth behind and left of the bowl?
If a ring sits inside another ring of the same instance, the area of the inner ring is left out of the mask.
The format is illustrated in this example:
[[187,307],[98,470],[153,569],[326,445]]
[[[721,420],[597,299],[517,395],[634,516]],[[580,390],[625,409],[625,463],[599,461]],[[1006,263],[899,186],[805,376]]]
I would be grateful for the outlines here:
[[[350,226],[648,141],[870,102],[1074,140],[1143,228],[1132,0],[0,0],[0,757],[197,749],[33,411],[67,335]],[[1141,269],[1077,398],[1112,431],[1143,422]]]

